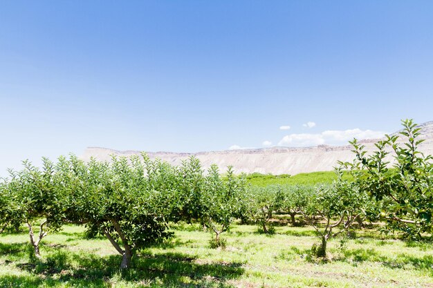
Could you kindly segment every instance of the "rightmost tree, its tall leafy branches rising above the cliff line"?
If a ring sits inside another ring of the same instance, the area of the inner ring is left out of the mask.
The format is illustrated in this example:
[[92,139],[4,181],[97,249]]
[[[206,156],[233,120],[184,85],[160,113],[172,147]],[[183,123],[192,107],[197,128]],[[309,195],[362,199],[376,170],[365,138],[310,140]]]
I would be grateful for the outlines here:
[[[380,218],[386,221],[387,231],[399,230],[404,236],[420,239],[422,233],[431,235],[433,229],[433,158],[418,151],[418,145],[424,141],[421,128],[412,119],[403,120],[402,124],[402,131],[386,135],[386,140],[376,143],[377,150],[370,155],[365,146],[353,140],[356,159],[344,164],[360,189],[383,207]],[[394,164],[389,166],[386,159],[391,152]]]

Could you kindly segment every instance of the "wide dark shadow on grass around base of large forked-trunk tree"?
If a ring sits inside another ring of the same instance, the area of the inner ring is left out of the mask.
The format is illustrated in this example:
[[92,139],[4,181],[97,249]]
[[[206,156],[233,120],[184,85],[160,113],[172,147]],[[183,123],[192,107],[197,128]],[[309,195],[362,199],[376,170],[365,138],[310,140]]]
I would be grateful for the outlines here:
[[39,279],[44,279],[44,285],[49,286],[53,281],[54,287],[65,282],[73,287],[83,283],[86,287],[110,287],[112,279],[116,278],[136,286],[145,283],[149,287],[222,288],[232,287],[227,281],[238,278],[244,272],[241,263],[201,263],[183,253],[143,253],[133,258],[132,266],[127,271],[119,270],[120,260],[120,256],[99,257],[59,250],[44,260],[15,265],[30,272],[31,277],[0,276],[0,287],[8,281],[16,283],[15,286],[37,287],[41,283]]

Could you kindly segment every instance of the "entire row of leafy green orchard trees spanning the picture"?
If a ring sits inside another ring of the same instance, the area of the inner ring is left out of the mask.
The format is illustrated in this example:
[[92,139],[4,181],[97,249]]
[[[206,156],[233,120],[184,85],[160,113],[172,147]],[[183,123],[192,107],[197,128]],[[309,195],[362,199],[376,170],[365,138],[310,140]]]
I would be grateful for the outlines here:
[[[26,223],[39,257],[39,243],[49,233],[65,223],[84,224],[87,236],[107,237],[122,255],[122,269],[139,249],[169,238],[169,224],[181,220],[199,222],[219,246],[234,220],[272,233],[273,214],[285,213],[293,225],[302,219],[317,231],[317,256],[326,256],[327,241],[354,223],[380,221],[384,231],[423,238],[432,235],[433,165],[431,155],[418,152],[421,142],[412,120],[403,122],[400,135],[378,142],[374,153],[353,140],[355,160],[340,162],[338,180],[326,185],[250,186],[230,167],[223,175],[215,165],[204,171],[194,157],[179,166],[145,154],[111,162],[44,158],[42,168],[24,162],[0,183],[0,229]],[[385,162],[389,153],[393,165]],[[343,171],[353,178],[342,177]]]

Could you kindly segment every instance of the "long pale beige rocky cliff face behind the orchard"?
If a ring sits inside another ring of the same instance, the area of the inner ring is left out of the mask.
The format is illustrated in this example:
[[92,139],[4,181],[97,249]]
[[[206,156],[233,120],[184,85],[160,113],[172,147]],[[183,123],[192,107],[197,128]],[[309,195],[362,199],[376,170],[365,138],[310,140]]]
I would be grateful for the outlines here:
[[[422,137],[425,142],[420,144],[420,151],[433,154],[433,122],[426,122],[420,125]],[[403,139],[402,139],[403,140]],[[402,141],[400,140],[400,141]],[[362,140],[367,151],[374,151],[378,140]],[[95,157],[98,160],[110,160],[111,155],[136,155],[140,151],[116,151],[109,148],[89,147],[82,155],[83,160]],[[160,158],[170,164],[181,164],[182,160],[191,155],[196,156],[201,164],[207,169],[211,164],[217,164],[221,171],[225,171],[228,165],[232,165],[236,173],[272,173],[291,174],[331,171],[333,166],[340,161],[353,160],[351,146],[328,146],[320,145],[306,148],[272,147],[257,149],[241,149],[230,151],[211,151],[199,153],[169,153],[169,152],[148,152],[151,159]],[[392,155],[388,156],[392,162]]]

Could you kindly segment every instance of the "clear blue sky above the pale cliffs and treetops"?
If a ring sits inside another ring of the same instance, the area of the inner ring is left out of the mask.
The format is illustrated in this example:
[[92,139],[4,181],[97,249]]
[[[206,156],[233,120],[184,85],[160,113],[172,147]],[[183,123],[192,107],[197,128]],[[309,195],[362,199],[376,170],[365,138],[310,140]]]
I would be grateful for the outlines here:
[[0,171],[86,146],[342,144],[433,120],[432,11],[431,1],[2,1]]

